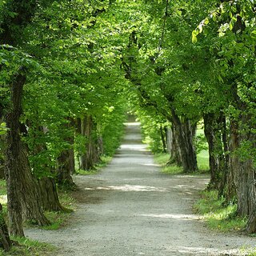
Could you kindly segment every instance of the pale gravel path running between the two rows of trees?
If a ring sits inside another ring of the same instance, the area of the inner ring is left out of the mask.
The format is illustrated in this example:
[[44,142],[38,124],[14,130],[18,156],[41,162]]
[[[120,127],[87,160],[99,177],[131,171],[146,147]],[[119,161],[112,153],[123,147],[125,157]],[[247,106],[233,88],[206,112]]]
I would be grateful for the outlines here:
[[62,256],[243,255],[255,238],[208,230],[192,205],[207,176],[159,172],[141,142],[138,123],[101,174],[75,176],[78,210],[61,230],[26,230],[58,246]]

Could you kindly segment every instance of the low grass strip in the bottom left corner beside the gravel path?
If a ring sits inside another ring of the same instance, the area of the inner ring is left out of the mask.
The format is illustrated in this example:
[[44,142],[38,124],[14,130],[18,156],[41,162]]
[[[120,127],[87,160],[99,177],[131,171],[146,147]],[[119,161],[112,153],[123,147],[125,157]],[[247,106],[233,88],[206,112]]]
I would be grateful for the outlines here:
[[49,256],[57,250],[54,246],[27,238],[12,237],[11,239],[17,241],[18,246],[12,246],[8,252],[0,249],[0,256]]

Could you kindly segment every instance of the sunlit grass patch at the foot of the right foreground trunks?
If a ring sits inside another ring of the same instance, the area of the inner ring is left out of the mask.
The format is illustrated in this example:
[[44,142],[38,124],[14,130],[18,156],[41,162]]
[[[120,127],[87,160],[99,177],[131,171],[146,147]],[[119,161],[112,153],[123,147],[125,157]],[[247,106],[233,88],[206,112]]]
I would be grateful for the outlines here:
[[202,214],[210,229],[242,231],[246,226],[246,218],[236,216],[237,205],[226,206],[224,198],[218,198],[217,190],[202,191],[201,198],[194,204],[194,210]]

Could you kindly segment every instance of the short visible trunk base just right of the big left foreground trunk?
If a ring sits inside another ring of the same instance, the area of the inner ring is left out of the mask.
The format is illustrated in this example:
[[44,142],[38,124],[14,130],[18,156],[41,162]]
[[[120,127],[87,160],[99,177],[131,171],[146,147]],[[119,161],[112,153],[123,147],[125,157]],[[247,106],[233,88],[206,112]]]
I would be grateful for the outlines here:
[[44,210],[62,211],[64,208],[58,200],[54,178],[44,177],[38,180],[40,202]]

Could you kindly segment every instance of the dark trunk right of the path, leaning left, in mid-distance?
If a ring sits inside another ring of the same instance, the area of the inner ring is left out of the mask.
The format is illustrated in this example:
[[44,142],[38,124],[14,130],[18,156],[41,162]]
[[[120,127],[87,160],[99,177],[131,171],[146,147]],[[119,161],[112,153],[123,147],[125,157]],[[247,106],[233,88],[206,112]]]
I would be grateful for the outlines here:
[[182,167],[186,173],[198,170],[197,155],[194,149],[194,126],[190,120],[186,119],[182,122],[178,115],[172,109],[172,118],[175,134],[178,138],[178,146],[182,155]]

